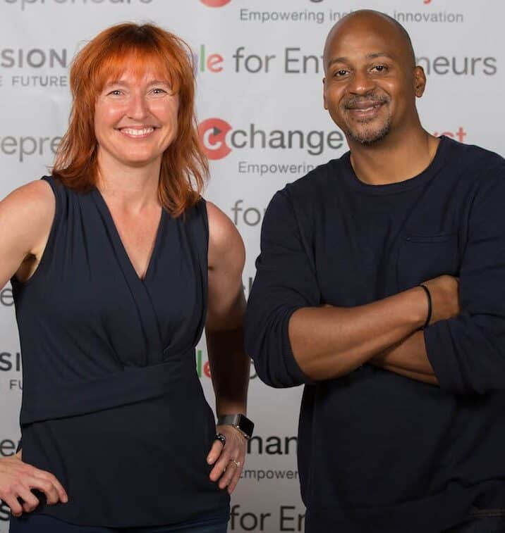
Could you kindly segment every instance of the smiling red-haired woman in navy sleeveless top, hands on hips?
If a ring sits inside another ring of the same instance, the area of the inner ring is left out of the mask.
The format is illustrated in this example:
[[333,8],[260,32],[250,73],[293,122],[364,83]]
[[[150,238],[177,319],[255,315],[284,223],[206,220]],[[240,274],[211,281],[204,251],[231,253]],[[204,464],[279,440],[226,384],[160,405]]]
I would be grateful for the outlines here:
[[23,351],[11,532],[226,531],[250,430],[216,429],[194,356],[205,326],[217,414],[244,414],[244,249],[200,196],[189,58],[154,25],[100,33],[52,175],[0,203]]

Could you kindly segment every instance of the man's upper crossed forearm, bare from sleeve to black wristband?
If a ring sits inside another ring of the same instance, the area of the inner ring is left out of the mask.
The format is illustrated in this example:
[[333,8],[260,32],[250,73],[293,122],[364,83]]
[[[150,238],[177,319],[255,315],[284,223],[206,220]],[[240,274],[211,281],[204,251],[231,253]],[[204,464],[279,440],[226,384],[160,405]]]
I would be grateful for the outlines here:
[[293,355],[308,377],[346,375],[424,324],[426,295],[415,287],[353,308],[302,308],[288,334]]

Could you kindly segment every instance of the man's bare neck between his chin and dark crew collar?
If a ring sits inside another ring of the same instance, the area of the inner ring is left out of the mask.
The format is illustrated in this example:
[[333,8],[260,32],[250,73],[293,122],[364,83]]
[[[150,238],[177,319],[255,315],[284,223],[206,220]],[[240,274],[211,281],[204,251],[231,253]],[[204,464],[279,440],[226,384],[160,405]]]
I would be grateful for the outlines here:
[[370,185],[403,182],[417,176],[430,165],[439,145],[439,139],[421,127],[403,133],[401,138],[389,134],[372,146],[348,140],[354,172]]

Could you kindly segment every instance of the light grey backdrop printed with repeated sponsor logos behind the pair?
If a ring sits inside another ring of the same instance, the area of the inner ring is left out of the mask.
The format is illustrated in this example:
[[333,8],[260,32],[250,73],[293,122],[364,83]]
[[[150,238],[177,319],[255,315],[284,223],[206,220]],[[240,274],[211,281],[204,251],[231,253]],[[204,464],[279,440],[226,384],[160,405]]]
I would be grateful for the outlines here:
[[[153,21],[193,48],[198,119],[212,161],[206,196],[245,241],[247,295],[269,199],[347,149],[322,107],[321,55],[331,25],[358,8],[384,11],[410,32],[427,74],[418,102],[427,130],[505,153],[501,1],[0,0],[0,196],[51,165],[66,130],[75,51],[114,23]],[[196,365],[213,406],[203,342]],[[7,286],[0,289],[0,456],[16,449],[22,391]],[[252,368],[249,413],[256,437],[233,495],[229,531],[303,531],[296,467],[300,393],[269,389]],[[0,533],[7,521],[0,501]]]

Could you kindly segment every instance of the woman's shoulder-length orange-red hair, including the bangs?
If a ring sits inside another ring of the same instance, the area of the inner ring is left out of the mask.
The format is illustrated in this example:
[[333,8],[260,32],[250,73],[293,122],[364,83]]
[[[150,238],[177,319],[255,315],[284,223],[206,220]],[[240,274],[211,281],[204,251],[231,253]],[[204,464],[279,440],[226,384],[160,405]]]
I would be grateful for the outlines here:
[[162,154],[159,200],[178,216],[194,205],[209,173],[195,118],[193,55],[182,39],[153,24],[123,23],[99,33],[75,56],[70,71],[70,124],[59,144],[52,173],[63,184],[86,192],[97,182],[95,102],[108,80],[126,68],[152,65],[178,94],[177,134]]

